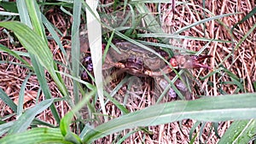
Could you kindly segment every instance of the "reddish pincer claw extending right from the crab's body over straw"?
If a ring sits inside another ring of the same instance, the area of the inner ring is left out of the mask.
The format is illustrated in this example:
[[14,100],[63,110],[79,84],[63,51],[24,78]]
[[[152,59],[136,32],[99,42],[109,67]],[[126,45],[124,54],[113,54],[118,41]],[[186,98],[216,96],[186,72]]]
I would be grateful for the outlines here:
[[202,60],[212,57],[212,55],[175,55],[174,59],[177,61],[179,68],[207,68],[211,70],[211,66],[201,64]]

